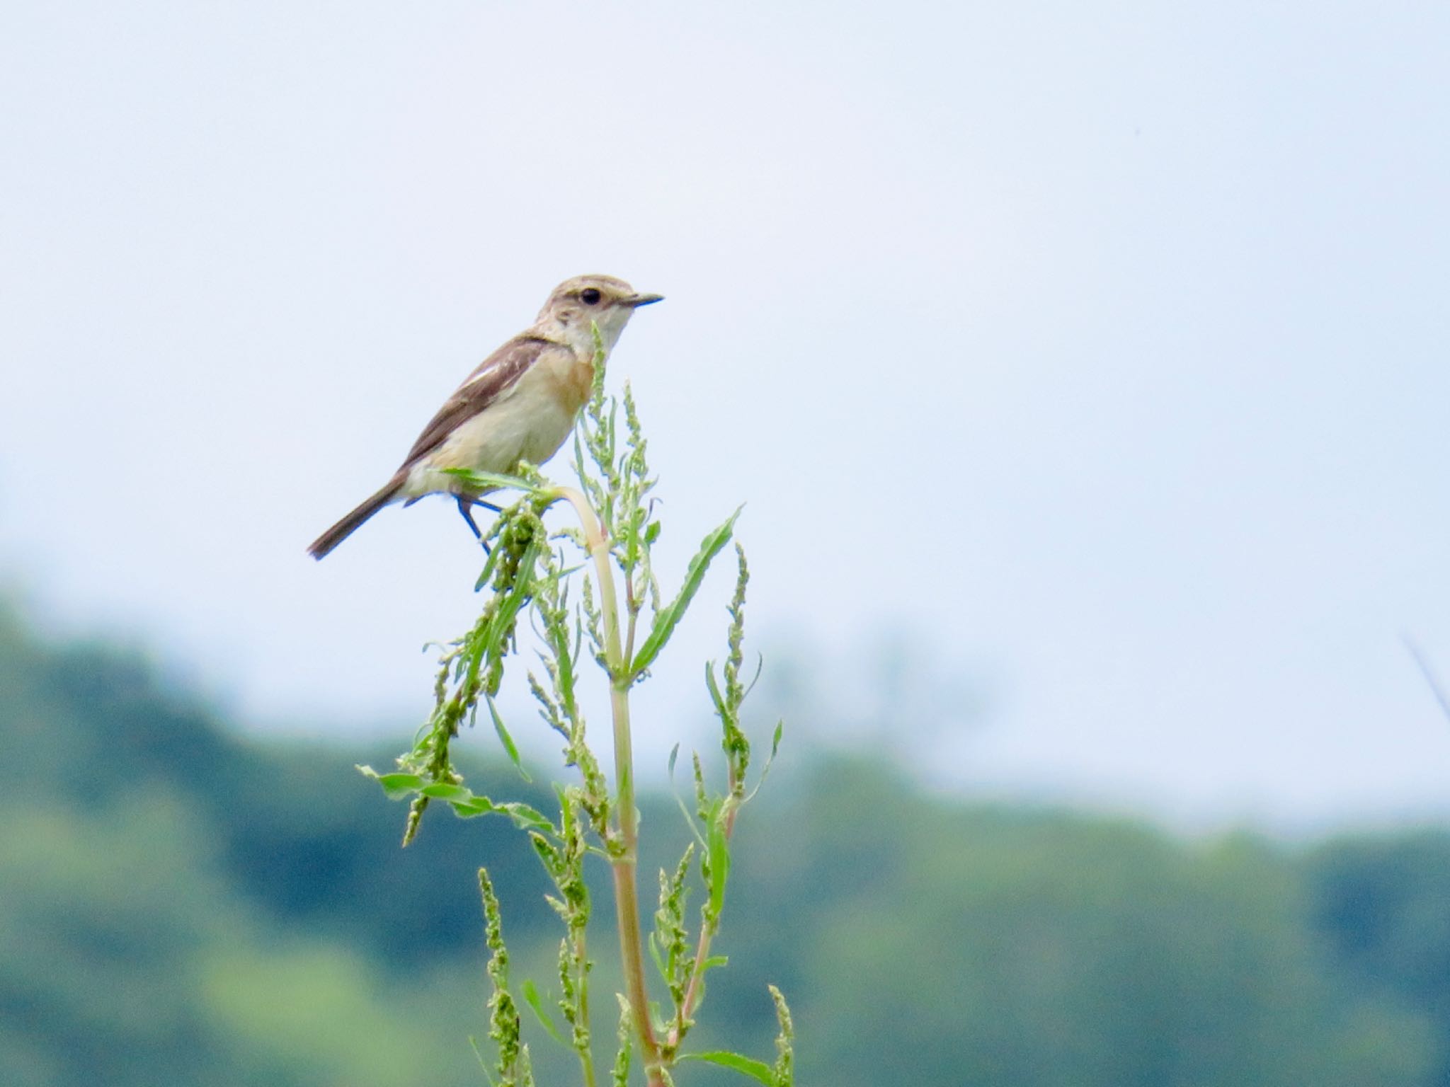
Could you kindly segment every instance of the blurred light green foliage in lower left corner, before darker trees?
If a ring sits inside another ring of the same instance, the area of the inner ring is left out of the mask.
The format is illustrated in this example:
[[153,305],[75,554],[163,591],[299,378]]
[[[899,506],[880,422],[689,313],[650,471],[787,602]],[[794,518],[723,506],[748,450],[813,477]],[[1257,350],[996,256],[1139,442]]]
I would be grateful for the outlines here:
[[258,916],[177,791],[67,807],[0,804],[7,1087],[390,1087],[463,1029],[389,994],[365,952]]

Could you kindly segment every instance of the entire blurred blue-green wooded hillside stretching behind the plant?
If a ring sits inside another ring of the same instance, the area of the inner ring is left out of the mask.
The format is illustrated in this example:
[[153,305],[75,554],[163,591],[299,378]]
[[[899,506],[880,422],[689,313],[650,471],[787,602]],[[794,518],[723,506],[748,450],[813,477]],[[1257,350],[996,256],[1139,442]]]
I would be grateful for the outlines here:
[[[473,872],[541,984],[544,880],[503,823],[429,813],[400,851],[352,770],[390,754],[242,738],[0,612],[0,1084],[486,1083]],[[1450,1086],[1444,830],[1185,841],[792,761],[741,825],[702,1048],[767,1055],[774,981],[803,1084]],[[674,801],[644,817],[666,862]]]

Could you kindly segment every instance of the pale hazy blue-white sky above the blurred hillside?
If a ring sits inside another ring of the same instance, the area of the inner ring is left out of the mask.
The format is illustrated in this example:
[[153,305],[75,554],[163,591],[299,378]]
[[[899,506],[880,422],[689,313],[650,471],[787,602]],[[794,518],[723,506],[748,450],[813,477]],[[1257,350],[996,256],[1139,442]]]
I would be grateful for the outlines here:
[[303,548],[605,271],[670,570],[748,501],[824,730],[908,630],[941,781],[1450,812],[1441,3],[12,0],[0,99],[0,570],[248,720],[407,733],[467,533]]

